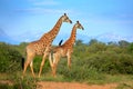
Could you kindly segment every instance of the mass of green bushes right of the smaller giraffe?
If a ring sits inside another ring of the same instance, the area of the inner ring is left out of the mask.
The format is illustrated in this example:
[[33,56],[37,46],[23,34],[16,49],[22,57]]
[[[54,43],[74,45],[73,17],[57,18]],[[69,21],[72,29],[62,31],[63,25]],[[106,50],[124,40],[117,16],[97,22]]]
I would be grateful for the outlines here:
[[133,56],[129,53],[129,42],[105,44],[91,40],[89,44],[76,41],[69,70],[66,59],[61,59],[58,73],[72,80],[104,79],[101,73],[133,75]]

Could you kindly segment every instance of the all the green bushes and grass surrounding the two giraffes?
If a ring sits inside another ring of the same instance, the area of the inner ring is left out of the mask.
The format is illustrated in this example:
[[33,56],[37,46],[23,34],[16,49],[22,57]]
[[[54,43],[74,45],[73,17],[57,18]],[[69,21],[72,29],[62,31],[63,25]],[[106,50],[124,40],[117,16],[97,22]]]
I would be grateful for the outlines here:
[[[103,43],[92,39],[89,43],[78,40],[72,55],[72,67],[66,67],[66,58],[62,58],[58,65],[57,76],[53,78],[49,60],[43,67],[40,79],[32,78],[30,68],[22,80],[21,60],[25,58],[25,46],[0,42],[0,80],[11,80],[13,86],[0,83],[2,89],[33,89],[35,82],[48,81],[79,81],[88,83],[119,82],[116,89],[133,88],[133,42],[121,40],[119,42]],[[33,60],[34,72],[38,75],[42,57]],[[8,76],[7,76],[8,75]],[[3,88],[4,87],[4,88]]]

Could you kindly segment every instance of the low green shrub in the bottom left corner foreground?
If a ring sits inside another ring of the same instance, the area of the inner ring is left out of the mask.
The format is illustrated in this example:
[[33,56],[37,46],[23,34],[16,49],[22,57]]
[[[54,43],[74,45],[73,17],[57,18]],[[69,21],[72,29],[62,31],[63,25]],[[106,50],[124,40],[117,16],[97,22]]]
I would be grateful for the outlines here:
[[[8,73],[9,79],[7,83],[0,83],[0,89],[37,89],[37,79],[32,77],[24,77],[21,79],[20,73],[12,72]],[[7,80],[2,80],[7,81]]]

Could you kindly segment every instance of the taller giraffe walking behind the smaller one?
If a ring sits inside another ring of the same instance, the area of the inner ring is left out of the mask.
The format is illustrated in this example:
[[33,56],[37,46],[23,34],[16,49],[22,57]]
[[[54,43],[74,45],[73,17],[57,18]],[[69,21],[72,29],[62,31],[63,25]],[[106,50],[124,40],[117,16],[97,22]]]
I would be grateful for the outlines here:
[[39,40],[30,42],[27,46],[25,48],[27,49],[27,61],[24,62],[23,76],[27,71],[28,66],[30,65],[32,76],[35,77],[34,71],[33,71],[33,58],[38,55],[38,56],[42,56],[42,61],[41,61],[40,71],[39,71],[39,77],[40,77],[45,58],[49,55],[51,43],[53,39],[57,37],[62,22],[72,23],[72,21],[69,19],[66,13],[64,13],[63,16],[60,17],[55,26],[49,32],[44,33]]

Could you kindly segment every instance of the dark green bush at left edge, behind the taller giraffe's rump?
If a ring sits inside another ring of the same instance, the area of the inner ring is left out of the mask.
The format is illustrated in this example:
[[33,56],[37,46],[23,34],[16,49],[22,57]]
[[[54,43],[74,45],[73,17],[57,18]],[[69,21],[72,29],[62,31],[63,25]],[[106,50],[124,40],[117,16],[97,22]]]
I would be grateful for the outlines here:
[[12,72],[21,69],[22,56],[7,43],[0,43],[0,72]]

